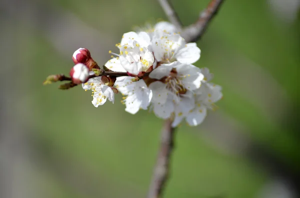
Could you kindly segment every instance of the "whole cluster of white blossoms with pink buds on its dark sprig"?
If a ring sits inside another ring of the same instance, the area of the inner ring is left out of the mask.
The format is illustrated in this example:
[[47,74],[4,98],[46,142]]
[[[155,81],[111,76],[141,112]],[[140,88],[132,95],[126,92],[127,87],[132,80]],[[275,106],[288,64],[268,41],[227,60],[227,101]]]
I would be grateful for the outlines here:
[[186,43],[169,22],[158,22],[152,29],[124,33],[103,68],[85,48],[72,56],[75,66],[70,78],[51,75],[45,83],[70,80],[61,85],[68,89],[82,83],[92,91],[92,104],[114,102],[114,94],[123,95],[125,111],[136,114],[140,109],[153,111],[162,119],[170,118],[172,127],[183,119],[190,126],[199,125],[207,110],[216,109],[222,97],[221,87],[211,82],[207,68],[194,65],[200,58],[196,43]]

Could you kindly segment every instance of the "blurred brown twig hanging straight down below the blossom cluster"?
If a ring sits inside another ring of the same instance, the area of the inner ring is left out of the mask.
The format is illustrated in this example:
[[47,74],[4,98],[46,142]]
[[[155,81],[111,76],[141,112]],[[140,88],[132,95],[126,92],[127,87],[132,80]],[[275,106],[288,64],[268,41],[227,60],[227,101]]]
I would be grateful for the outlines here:
[[157,162],[154,168],[148,198],[160,198],[168,178],[169,164],[172,150],[174,148],[175,128],[171,127],[172,122],[166,120],[162,131],[160,149],[158,151]]

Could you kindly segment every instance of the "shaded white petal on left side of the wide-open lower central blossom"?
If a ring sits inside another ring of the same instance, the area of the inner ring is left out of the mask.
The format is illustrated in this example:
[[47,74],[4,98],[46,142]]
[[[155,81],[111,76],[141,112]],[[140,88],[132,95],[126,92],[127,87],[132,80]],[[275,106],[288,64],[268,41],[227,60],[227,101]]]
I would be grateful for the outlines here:
[[159,102],[160,104],[164,104],[167,99],[168,91],[165,88],[165,84],[160,81],[152,82],[149,85],[149,89],[152,91],[152,101]]

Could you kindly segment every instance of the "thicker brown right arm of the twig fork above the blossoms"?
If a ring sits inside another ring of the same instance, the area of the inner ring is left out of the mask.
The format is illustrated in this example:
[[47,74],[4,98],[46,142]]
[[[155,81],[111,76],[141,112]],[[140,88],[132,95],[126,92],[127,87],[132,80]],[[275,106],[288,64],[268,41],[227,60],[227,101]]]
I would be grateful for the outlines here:
[[186,42],[196,41],[201,38],[209,22],[217,13],[223,1],[224,0],[211,0],[206,9],[200,13],[198,20],[183,29],[181,36],[186,40]]

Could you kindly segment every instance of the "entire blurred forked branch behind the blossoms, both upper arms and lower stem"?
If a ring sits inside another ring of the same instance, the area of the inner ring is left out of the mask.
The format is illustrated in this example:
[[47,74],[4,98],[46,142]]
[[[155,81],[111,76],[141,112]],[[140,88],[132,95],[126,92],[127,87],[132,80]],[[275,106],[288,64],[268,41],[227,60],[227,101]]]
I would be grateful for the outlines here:
[[[180,25],[179,18],[172,6],[167,0],[158,0],[170,22],[174,25]],[[185,27],[181,33],[182,37],[187,42],[195,41],[201,38],[209,21],[216,14],[223,0],[211,0],[204,11],[200,13],[198,20]],[[161,131],[160,150],[158,151],[157,162],[154,167],[152,181],[148,192],[148,198],[160,198],[169,175],[170,156],[174,147],[174,132],[175,129],[171,127],[171,121],[166,120]]]

